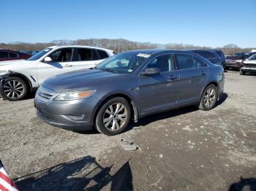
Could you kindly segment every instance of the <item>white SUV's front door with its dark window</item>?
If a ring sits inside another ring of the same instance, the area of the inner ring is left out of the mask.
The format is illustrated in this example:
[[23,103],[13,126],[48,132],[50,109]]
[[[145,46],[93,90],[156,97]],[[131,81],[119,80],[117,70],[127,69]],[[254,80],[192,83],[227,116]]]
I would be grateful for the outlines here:
[[39,85],[49,77],[74,70],[72,62],[73,48],[61,48],[52,52],[48,57],[52,59],[50,63],[39,62],[37,66],[37,78]]

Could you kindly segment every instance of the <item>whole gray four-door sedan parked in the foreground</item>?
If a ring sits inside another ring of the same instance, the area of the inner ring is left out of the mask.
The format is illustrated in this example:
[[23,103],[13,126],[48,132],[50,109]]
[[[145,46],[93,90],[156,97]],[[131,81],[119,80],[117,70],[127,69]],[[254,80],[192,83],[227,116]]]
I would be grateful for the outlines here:
[[37,90],[37,116],[69,130],[113,136],[130,119],[178,107],[213,109],[224,90],[224,71],[191,51],[122,52],[94,69],[59,74]]

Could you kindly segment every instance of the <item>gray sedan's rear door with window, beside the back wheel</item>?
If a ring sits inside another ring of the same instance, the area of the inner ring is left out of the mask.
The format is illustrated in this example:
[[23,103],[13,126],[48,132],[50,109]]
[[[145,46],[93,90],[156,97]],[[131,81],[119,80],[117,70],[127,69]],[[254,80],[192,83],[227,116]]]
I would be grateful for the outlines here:
[[206,63],[189,54],[176,54],[175,57],[179,74],[177,104],[199,101],[208,75]]

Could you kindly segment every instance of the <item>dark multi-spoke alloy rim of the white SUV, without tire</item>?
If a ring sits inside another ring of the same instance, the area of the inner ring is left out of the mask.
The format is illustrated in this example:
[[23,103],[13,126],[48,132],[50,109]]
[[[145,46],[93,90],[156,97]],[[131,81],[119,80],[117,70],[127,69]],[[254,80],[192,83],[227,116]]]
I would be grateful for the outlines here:
[[20,98],[24,94],[24,86],[17,80],[10,80],[4,84],[4,95],[8,98]]

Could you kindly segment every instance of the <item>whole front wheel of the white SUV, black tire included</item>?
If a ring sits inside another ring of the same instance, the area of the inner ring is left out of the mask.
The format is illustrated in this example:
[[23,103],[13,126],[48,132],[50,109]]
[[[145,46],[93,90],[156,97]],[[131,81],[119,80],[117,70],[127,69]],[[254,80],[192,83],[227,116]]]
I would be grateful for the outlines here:
[[27,83],[20,77],[8,77],[0,85],[1,96],[8,101],[18,101],[29,92]]

